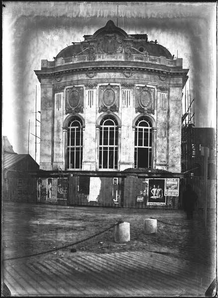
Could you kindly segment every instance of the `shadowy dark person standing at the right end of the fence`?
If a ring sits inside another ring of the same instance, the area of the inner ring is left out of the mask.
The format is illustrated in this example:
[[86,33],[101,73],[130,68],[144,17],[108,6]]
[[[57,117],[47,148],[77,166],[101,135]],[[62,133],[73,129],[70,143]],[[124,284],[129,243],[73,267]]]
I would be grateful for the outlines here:
[[193,219],[193,210],[195,210],[195,202],[197,201],[197,194],[192,190],[191,185],[186,186],[186,190],[183,192],[183,209],[186,211],[187,219]]

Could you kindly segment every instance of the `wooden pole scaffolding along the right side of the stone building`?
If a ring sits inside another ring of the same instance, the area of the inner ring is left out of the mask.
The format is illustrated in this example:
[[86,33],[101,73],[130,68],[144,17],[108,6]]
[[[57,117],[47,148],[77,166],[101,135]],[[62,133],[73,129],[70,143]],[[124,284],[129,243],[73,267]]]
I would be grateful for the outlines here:
[[185,85],[185,94],[183,94],[183,98],[183,110],[185,112],[182,114],[182,172],[187,172],[190,178],[193,178],[195,165],[195,83],[193,83],[192,96],[190,80],[189,90]]

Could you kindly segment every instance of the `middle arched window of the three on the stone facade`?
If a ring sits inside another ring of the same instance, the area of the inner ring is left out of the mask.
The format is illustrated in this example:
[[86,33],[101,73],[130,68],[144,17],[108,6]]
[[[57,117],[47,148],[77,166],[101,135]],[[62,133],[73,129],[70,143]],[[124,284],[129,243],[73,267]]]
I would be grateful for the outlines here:
[[118,123],[112,116],[100,122],[99,169],[117,169],[118,164]]

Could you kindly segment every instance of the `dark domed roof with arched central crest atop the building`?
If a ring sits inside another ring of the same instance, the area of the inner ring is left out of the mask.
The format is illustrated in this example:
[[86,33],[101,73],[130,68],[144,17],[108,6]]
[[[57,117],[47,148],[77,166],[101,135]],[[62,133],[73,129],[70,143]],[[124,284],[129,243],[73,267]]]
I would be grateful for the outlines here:
[[[128,35],[123,29],[116,27],[114,22],[111,20],[107,22],[105,27],[98,29],[93,35],[84,35],[83,37],[84,37],[83,42],[74,43],[73,45],[66,47],[56,56],[56,59],[60,57],[65,59],[65,58],[69,58],[77,55],[87,54],[86,51],[84,53],[83,51],[85,48],[89,47],[90,43],[95,43],[96,53],[102,53],[102,51],[104,52],[104,49],[105,49],[105,46],[104,45],[102,46],[102,44],[105,42],[106,38],[111,38],[111,41],[112,41],[111,44],[113,43],[115,50],[118,49],[119,45],[121,44],[123,45],[123,44],[126,44],[127,42],[131,42],[133,53],[135,49],[134,54],[140,54],[140,52],[142,52],[143,54],[143,52],[146,51],[149,56],[154,56],[154,57],[163,56],[163,57],[166,57],[167,59],[173,59],[172,55],[165,47],[157,44],[156,41],[155,42],[147,41],[146,34]],[[108,52],[105,52],[105,53],[108,53]]]

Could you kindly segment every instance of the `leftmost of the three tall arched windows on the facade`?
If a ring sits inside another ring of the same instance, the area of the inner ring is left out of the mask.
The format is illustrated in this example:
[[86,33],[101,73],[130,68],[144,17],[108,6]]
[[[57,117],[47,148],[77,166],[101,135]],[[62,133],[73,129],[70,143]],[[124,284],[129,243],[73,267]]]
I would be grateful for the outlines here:
[[82,121],[74,116],[68,123],[67,168],[82,168]]

